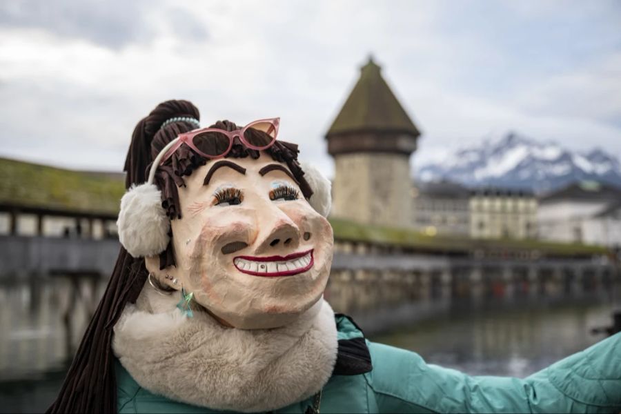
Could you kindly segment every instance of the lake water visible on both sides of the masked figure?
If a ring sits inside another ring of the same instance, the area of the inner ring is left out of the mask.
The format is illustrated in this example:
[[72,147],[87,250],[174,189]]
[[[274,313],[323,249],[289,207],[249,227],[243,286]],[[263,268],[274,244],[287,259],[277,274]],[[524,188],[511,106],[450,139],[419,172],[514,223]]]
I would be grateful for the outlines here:
[[[63,310],[76,300],[70,292],[61,280],[0,288],[0,412],[44,411],[55,397],[86,326],[83,305],[97,302],[77,299],[68,331]],[[427,362],[472,375],[524,377],[603,339],[590,330],[611,323],[611,301],[602,289],[577,297],[407,301],[352,315],[371,340]]]

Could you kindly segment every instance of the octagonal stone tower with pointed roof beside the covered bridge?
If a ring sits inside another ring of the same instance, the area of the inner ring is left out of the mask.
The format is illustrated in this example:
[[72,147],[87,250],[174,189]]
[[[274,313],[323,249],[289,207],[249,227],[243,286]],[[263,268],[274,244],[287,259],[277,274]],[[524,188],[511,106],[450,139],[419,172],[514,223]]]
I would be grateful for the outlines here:
[[334,217],[413,226],[410,155],[420,135],[373,59],[326,134],[335,160]]

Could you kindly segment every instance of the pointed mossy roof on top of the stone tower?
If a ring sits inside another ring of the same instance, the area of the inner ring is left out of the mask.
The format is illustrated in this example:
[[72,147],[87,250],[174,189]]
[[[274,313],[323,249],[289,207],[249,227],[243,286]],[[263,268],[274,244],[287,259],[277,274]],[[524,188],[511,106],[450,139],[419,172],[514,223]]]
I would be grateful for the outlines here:
[[360,78],[326,136],[360,130],[397,130],[420,135],[373,59],[362,67]]

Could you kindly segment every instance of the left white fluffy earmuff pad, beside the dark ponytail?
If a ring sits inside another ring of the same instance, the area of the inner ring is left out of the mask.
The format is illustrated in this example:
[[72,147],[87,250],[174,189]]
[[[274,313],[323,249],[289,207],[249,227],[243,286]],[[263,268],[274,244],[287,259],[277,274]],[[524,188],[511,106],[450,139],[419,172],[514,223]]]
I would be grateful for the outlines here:
[[132,186],[121,198],[119,240],[132,257],[155,256],[166,250],[170,220],[155,184]]

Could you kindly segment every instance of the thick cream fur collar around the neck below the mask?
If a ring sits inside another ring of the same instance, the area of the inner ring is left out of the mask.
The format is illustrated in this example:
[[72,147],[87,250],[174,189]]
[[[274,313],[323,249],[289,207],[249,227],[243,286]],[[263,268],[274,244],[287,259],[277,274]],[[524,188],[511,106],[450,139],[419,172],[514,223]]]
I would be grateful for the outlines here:
[[146,285],[115,326],[112,349],[134,380],[172,400],[231,411],[270,411],[317,393],[337,357],[334,313],[321,299],[288,326],[225,328],[193,318]]

